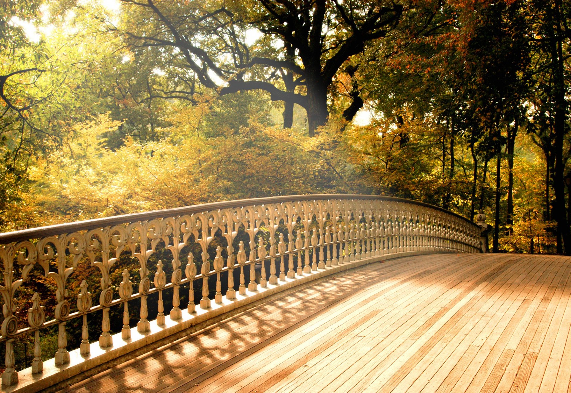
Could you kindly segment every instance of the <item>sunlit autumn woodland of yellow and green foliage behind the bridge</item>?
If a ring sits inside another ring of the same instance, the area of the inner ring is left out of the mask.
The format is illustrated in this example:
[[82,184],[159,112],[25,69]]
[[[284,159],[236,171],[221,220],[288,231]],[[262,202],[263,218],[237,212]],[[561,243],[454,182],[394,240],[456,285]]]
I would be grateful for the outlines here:
[[3,0],[0,230],[400,196],[571,254],[571,3]]

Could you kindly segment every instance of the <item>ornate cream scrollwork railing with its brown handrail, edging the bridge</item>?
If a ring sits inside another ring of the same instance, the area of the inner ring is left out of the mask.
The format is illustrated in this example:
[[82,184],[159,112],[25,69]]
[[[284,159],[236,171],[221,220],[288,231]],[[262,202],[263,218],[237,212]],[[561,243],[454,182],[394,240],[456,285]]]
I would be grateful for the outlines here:
[[[405,199],[302,195],[34,228],[0,244],[2,390],[31,392],[320,276],[396,255],[480,252],[480,228]],[[42,362],[50,334],[57,349]],[[17,371],[14,342],[26,337],[31,367]]]

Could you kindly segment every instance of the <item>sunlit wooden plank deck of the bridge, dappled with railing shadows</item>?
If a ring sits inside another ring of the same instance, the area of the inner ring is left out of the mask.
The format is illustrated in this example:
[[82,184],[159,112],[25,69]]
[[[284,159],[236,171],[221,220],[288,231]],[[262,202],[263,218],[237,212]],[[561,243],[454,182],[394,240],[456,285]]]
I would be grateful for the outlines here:
[[428,255],[300,288],[69,392],[565,392],[571,258]]

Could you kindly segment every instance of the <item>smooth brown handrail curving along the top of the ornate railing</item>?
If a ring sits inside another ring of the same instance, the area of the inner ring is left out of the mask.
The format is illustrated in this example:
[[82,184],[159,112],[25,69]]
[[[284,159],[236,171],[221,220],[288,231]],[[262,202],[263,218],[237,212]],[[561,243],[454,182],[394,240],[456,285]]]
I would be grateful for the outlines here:
[[114,226],[117,224],[125,224],[130,222],[137,222],[142,220],[152,220],[156,218],[165,218],[170,216],[179,216],[185,214],[192,214],[196,212],[202,212],[207,210],[223,209],[228,207],[242,207],[250,206],[252,204],[266,204],[266,203],[280,203],[280,202],[296,202],[297,200],[324,200],[324,199],[361,199],[361,200],[386,200],[393,202],[403,202],[416,204],[418,206],[429,207],[446,214],[455,216],[456,218],[462,219],[467,223],[478,227],[476,223],[471,220],[456,214],[453,211],[447,210],[440,206],[435,206],[433,204],[419,202],[416,200],[397,198],[395,196],[385,196],[385,195],[361,195],[361,194],[307,194],[307,195],[283,195],[283,196],[268,196],[264,198],[251,198],[251,199],[235,199],[222,202],[210,202],[210,203],[200,203],[193,204],[190,206],[174,207],[162,210],[151,210],[138,213],[115,215],[103,218],[94,218],[89,220],[75,221],[63,224],[54,224],[43,227],[35,227],[29,229],[23,229],[19,231],[11,231],[0,233],[0,244],[7,244],[11,242],[20,242],[22,240],[29,240],[33,238],[42,238],[52,235],[65,234],[75,231],[91,230],[95,228]]

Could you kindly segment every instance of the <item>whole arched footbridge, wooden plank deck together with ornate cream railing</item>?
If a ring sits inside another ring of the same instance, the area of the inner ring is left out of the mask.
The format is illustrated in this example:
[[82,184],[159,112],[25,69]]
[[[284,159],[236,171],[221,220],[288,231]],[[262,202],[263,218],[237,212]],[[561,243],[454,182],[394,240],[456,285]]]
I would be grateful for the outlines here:
[[480,229],[305,195],[1,234],[2,391],[568,390],[569,258]]

